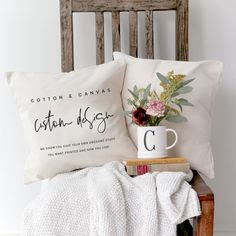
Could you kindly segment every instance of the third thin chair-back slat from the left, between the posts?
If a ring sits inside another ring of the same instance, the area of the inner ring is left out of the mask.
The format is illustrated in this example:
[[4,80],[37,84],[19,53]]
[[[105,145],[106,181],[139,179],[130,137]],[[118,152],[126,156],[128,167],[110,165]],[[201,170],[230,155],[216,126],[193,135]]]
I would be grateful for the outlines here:
[[138,56],[138,20],[137,20],[137,12],[130,11],[129,12],[129,53],[131,56]]

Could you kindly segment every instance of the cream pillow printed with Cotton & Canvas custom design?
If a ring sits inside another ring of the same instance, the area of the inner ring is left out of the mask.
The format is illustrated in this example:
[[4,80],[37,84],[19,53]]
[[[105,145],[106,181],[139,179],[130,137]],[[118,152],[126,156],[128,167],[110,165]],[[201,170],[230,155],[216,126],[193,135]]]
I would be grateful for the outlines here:
[[117,115],[124,73],[124,60],[70,73],[7,73],[28,141],[26,183],[136,155]]

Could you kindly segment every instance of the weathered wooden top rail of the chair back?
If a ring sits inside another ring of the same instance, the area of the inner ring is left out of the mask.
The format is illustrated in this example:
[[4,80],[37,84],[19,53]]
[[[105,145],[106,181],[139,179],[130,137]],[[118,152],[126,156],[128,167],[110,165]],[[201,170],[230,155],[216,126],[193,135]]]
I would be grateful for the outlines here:
[[176,0],[73,0],[73,11],[173,10]]

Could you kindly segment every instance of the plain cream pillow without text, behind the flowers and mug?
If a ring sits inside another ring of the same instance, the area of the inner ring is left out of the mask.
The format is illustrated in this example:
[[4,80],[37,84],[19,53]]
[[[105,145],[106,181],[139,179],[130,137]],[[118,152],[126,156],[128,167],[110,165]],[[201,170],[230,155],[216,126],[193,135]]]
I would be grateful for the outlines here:
[[[212,105],[215,100],[216,90],[222,74],[222,63],[217,61],[182,62],[165,60],[137,59],[123,53],[114,52],[116,59],[125,59],[127,62],[126,75],[122,93],[125,110],[130,110],[127,98],[130,97],[129,89],[134,85],[152,88],[158,93],[161,91],[156,72],[167,74],[174,70],[176,74],[185,74],[188,79],[195,78],[191,83],[193,91],[184,96],[194,107],[184,107],[184,116],[188,122],[175,124],[166,122],[170,128],[179,135],[178,144],[170,155],[181,155],[187,158],[193,169],[196,169],[209,178],[214,177],[214,163],[211,149],[211,115]],[[127,118],[131,138],[136,140],[136,126]]]

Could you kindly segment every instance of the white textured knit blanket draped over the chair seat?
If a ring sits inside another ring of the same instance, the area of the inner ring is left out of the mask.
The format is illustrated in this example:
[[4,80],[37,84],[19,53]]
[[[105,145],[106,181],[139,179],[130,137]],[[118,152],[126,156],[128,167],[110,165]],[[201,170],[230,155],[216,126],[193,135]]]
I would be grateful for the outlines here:
[[119,162],[54,177],[24,212],[27,236],[172,236],[200,214],[192,173],[131,178]]

